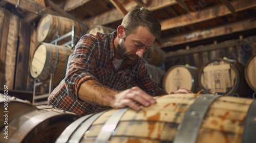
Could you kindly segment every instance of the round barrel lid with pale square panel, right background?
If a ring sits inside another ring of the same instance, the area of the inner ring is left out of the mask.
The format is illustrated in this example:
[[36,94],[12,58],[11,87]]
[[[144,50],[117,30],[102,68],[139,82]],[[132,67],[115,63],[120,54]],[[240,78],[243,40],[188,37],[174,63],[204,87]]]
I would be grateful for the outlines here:
[[200,70],[199,84],[207,93],[233,94],[239,83],[239,71],[234,60],[213,59]]

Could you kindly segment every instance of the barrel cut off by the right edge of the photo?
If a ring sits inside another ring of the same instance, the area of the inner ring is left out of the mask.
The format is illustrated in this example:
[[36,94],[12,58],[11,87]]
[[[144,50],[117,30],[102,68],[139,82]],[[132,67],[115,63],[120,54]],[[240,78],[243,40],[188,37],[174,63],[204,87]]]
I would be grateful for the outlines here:
[[251,89],[256,92],[256,55],[252,56],[245,66],[245,79]]

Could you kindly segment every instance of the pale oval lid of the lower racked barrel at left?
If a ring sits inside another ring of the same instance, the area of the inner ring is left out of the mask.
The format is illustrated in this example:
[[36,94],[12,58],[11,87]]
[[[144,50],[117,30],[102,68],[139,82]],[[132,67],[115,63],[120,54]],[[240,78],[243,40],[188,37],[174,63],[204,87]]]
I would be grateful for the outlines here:
[[40,44],[34,52],[30,73],[33,78],[37,78],[44,69],[47,57],[47,49],[44,44]]

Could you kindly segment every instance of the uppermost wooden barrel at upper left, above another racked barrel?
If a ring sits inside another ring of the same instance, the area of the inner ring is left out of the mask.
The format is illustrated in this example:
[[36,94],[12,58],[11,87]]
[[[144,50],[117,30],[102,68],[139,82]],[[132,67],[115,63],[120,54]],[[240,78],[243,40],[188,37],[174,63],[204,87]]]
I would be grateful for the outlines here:
[[[86,34],[88,27],[81,23],[66,17],[45,14],[38,23],[36,35],[39,42],[51,42],[52,40],[63,36],[72,31],[72,26],[75,27],[75,36],[80,39]],[[58,44],[70,41],[71,37],[63,39]]]

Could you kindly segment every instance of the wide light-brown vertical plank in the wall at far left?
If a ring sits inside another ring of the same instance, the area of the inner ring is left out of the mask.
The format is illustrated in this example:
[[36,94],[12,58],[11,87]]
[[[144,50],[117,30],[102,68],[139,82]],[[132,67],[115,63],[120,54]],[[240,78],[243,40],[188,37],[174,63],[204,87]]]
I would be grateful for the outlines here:
[[19,17],[12,14],[10,18],[7,51],[5,60],[5,85],[13,89],[15,77],[16,53],[18,45]]

